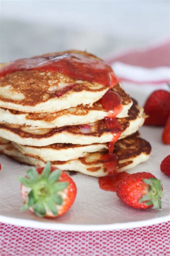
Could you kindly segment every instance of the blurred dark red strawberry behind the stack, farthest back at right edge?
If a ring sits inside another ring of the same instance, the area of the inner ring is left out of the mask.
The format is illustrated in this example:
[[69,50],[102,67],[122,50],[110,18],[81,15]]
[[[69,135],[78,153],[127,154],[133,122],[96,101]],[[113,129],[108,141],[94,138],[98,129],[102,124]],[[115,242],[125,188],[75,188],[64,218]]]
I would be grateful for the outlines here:
[[146,125],[165,125],[170,115],[170,93],[165,90],[157,90],[151,93],[144,106],[148,118]]

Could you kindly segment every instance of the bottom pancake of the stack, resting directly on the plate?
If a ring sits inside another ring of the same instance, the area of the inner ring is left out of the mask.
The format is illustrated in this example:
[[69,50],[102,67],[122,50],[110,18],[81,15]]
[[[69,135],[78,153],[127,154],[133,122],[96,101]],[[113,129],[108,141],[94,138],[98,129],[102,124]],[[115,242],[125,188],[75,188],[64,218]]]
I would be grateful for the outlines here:
[[[45,165],[42,160],[24,156],[13,147],[10,141],[4,139],[0,140],[0,151],[21,163],[40,167]],[[148,160],[150,152],[150,144],[142,138],[132,136],[117,141],[114,147],[114,153],[118,156],[117,171],[126,171],[139,163],[145,162]],[[65,171],[77,171],[94,177],[106,176],[108,171],[101,160],[103,154],[103,152],[89,153],[85,157],[76,160],[55,161],[52,162],[52,165]]]

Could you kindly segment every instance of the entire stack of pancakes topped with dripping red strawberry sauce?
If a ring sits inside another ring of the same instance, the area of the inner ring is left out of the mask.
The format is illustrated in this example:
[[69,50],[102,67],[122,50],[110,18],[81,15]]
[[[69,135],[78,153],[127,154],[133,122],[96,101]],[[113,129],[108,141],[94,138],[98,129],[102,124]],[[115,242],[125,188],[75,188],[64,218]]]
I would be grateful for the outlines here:
[[[2,65],[0,77],[0,151],[11,158],[96,177],[148,159],[151,146],[137,133],[143,109],[92,54],[21,59]],[[121,105],[108,109],[112,96]]]

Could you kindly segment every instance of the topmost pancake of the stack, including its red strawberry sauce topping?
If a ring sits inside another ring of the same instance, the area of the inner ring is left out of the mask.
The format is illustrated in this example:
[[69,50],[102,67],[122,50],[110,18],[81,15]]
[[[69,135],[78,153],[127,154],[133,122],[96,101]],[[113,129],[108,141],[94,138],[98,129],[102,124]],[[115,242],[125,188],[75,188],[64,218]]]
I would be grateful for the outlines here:
[[117,83],[105,62],[75,50],[7,63],[0,77],[0,107],[27,113],[92,104]]

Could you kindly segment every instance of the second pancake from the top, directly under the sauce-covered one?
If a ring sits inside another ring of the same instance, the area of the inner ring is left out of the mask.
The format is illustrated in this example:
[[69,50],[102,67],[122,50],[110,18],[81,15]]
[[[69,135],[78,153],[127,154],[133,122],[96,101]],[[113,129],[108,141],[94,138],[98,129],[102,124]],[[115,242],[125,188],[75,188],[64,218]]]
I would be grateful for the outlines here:
[[[132,106],[132,100],[124,92],[121,85],[117,84],[112,91],[118,93],[122,101],[122,111],[117,115],[123,118],[128,115],[128,110]],[[30,125],[39,128],[55,128],[68,125],[94,123],[104,119],[108,115],[101,105],[100,101],[94,102],[93,105],[79,105],[70,109],[61,110],[54,113],[24,113],[11,109],[0,108],[0,123],[10,123],[19,125]]]

